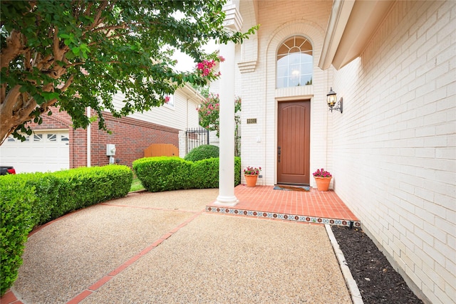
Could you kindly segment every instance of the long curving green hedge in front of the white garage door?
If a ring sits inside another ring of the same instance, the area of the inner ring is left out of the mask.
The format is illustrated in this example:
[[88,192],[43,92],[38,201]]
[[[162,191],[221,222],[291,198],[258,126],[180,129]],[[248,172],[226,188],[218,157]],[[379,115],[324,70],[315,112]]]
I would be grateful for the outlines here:
[[110,165],[0,177],[1,295],[14,283],[24,243],[34,226],[128,194],[129,167]]

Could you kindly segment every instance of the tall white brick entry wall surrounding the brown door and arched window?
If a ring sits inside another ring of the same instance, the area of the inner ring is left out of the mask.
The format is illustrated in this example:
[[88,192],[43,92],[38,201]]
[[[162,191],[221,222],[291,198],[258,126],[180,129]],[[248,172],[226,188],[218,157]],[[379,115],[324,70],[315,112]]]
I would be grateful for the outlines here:
[[[257,51],[257,65],[253,72],[238,73],[237,79],[242,79],[242,82],[237,83],[242,88],[242,168],[261,167],[261,184],[276,184],[278,100],[292,97],[311,99],[310,171],[330,166],[326,158],[328,111],[325,98],[331,86],[328,80],[332,78],[332,71],[322,71],[317,66],[330,11],[331,1],[307,5],[304,2],[299,6],[295,1],[281,1],[279,5],[276,1],[261,1],[258,6],[258,23],[261,26],[254,43],[249,41],[242,50],[244,60],[252,59],[246,52]],[[276,50],[286,38],[294,35],[306,36],[314,46],[314,85],[276,90]],[[254,50],[255,46],[257,50]],[[237,59],[242,60],[241,57]],[[247,118],[257,118],[257,124],[247,125]]]

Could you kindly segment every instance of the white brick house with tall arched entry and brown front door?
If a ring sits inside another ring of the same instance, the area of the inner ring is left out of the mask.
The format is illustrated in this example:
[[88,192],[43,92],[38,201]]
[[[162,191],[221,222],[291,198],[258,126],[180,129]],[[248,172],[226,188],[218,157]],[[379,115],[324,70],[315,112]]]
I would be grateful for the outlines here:
[[[220,89],[242,97],[242,167],[261,167],[268,185],[314,186],[312,172],[327,169],[415,293],[455,303],[456,1],[225,7],[230,28],[261,25],[242,46],[221,46],[211,88],[221,104]],[[331,88],[342,113],[328,110]],[[221,167],[228,159],[221,149]],[[236,204],[222,186],[219,204]]]

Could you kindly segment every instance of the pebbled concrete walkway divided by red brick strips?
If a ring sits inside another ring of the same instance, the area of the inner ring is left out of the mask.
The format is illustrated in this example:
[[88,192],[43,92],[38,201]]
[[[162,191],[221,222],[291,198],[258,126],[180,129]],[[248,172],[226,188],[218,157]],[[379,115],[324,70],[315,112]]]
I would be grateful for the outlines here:
[[352,303],[323,225],[205,212],[217,194],[130,194],[63,216],[29,237],[7,296],[16,303]]

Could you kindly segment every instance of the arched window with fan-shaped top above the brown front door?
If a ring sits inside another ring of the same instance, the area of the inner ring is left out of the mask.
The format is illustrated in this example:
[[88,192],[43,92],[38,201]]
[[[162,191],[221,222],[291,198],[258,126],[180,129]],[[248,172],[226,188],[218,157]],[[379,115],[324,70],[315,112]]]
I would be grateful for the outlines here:
[[293,36],[277,51],[277,88],[311,85],[314,56],[311,42],[304,36]]

